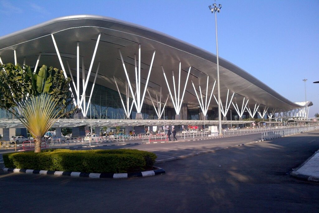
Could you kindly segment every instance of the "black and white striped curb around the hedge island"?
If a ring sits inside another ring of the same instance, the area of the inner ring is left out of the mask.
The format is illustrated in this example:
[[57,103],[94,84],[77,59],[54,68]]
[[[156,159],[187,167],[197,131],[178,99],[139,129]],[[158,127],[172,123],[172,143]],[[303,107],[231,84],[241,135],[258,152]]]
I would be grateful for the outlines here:
[[87,178],[137,178],[165,174],[165,170],[157,167],[155,170],[136,172],[136,173],[83,173],[83,172],[63,172],[63,171],[47,171],[33,169],[12,169],[3,168],[4,172],[8,173],[26,173],[26,174],[43,174],[55,176],[70,176],[70,177],[87,177]]

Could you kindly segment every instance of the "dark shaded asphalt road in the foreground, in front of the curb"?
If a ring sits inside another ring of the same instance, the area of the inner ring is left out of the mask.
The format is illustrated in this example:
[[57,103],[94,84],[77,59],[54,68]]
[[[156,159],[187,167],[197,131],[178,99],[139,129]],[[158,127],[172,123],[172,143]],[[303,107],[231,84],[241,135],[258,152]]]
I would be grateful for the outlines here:
[[159,164],[165,175],[88,179],[0,173],[0,212],[318,212],[319,184],[289,176],[319,131]]

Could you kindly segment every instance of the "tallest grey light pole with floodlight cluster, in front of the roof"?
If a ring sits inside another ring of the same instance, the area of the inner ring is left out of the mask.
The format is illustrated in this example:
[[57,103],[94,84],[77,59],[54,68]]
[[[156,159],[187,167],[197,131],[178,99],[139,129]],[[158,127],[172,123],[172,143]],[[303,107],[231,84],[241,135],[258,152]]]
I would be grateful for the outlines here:
[[221,4],[216,6],[214,3],[212,6],[208,6],[211,10],[211,13],[215,13],[215,30],[216,30],[216,56],[217,56],[217,87],[218,87],[218,123],[219,123],[219,135],[222,135],[222,128],[221,128],[221,107],[220,107],[220,84],[219,84],[219,61],[218,61],[218,39],[217,39],[217,15],[216,12],[220,11]]

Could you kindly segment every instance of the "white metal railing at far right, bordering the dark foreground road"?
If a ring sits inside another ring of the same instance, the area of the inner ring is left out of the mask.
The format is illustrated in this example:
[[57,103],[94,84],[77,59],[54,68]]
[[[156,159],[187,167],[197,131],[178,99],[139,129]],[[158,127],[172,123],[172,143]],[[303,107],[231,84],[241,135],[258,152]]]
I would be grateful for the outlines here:
[[298,127],[298,128],[290,128],[290,129],[279,129],[276,131],[267,131],[263,132],[261,135],[261,140],[271,140],[279,137],[285,137],[288,135],[299,134],[302,132],[309,132],[319,129],[319,126],[310,126],[310,127]]

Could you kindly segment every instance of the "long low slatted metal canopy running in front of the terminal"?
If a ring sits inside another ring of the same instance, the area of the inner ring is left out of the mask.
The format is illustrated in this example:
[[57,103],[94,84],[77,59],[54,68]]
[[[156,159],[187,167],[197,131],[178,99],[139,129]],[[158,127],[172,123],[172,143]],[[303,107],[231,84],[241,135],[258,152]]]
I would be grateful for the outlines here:
[[[56,127],[127,127],[127,126],[171,126],[171,125],[218,125],[218,121],[204,120],[133,120],[133,119],[58,119],[53,128]],[[246,124],[254,121],[222,121],[222,124]],[[25,128],[19,119],[0,119],[0,128]]]

